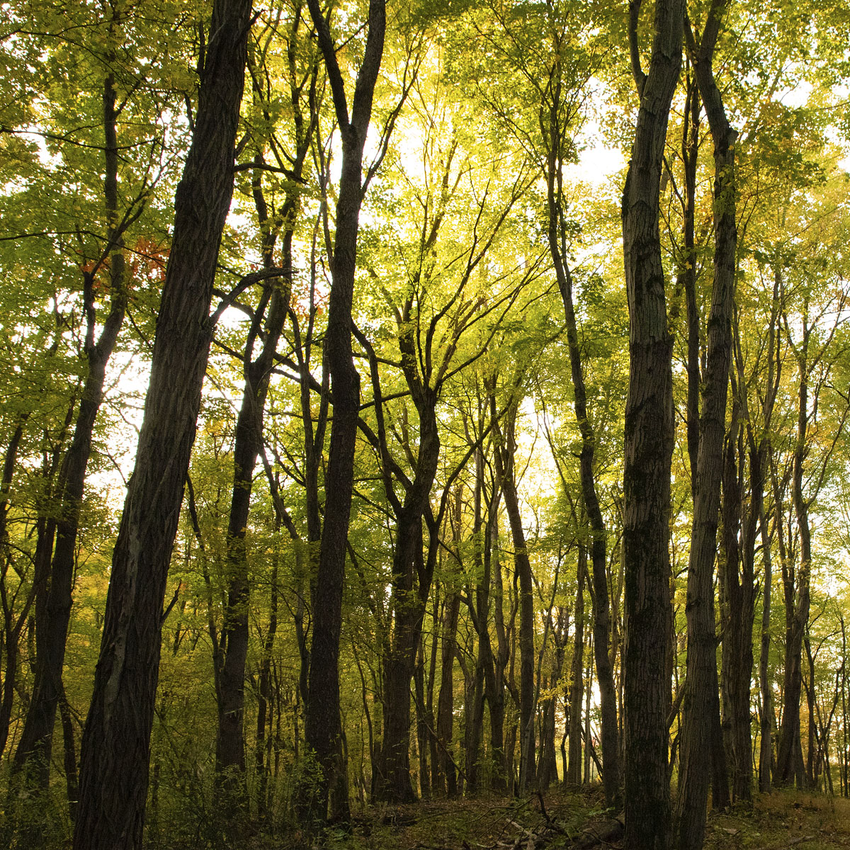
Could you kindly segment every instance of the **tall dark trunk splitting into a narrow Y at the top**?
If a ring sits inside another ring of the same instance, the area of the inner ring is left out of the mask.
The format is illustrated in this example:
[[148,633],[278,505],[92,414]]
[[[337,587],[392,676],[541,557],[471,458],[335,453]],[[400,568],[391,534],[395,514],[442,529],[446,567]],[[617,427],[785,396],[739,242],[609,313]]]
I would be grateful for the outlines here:
[[[351,307],[360,205],[363,201],[362,159],[371,120],[372,97],[383,54],[386,10],[384,0],[370,0],[369,31],[363,63],[354,87],[349,118],[343,75],[337,48],[319,0],[308,0],[310,16],[318,33],[331,84],[333,105],[343,140],[342,172],[337,200],[337,230],[331,261],[331,293],[325,334],[325,357],[331,374],[333,420],[325,496],[319,569],[313,598],[313,646],[310,652],[309,699],[305,735],[322,770],[312,814],[326,818],[331,781],[342,770],[342,728],[339,717],[339,636],[342,629],[345,554],[354,479],[354,444],[360,413],[360,375],[354,368],[351,348]],[[410,680],[408,680],[409,682]],[[406,699],[410,699],[409,692]],[[337,819],[347,817],[343,810]]]

